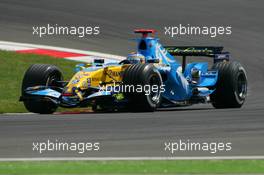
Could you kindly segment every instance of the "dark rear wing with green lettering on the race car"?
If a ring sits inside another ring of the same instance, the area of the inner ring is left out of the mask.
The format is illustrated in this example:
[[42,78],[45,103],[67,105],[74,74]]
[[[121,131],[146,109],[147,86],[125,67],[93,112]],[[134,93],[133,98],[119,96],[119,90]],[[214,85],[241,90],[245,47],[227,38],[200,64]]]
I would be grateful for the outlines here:
[[214,46],[165,46],[168,53],[172,56],[182,56],[182,70],[185,70],[187,56],[212,57],[214,63],[229,61],[230,53],[223,52],[224,47]]

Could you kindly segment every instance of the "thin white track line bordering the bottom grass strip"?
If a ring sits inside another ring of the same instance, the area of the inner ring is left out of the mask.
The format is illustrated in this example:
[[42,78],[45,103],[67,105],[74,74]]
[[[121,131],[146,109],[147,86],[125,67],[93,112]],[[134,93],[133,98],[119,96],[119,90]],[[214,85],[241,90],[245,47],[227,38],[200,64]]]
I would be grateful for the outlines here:
[[113,160],[264,160],[264,156],[216,156],[216,157],[37,157],[0,158],[0,161],[113,161]]

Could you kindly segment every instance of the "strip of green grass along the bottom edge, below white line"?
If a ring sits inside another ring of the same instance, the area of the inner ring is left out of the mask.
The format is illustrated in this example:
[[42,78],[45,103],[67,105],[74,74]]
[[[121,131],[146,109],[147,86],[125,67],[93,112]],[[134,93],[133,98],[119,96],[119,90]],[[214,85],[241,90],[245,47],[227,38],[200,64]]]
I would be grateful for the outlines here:
[[1,162],[0,174],[263,174],[264,160]]

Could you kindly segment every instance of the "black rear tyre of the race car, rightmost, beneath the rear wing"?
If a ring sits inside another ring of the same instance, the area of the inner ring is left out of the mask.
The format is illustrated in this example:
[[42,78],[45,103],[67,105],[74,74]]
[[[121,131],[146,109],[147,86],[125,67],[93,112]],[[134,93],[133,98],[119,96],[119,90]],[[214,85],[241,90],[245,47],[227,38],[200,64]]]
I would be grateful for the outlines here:
[[216,90],[210,95],[215,108],[240,108],[247,95],[246,71],[238,62],[218,62],[213,65],[218,70]]

